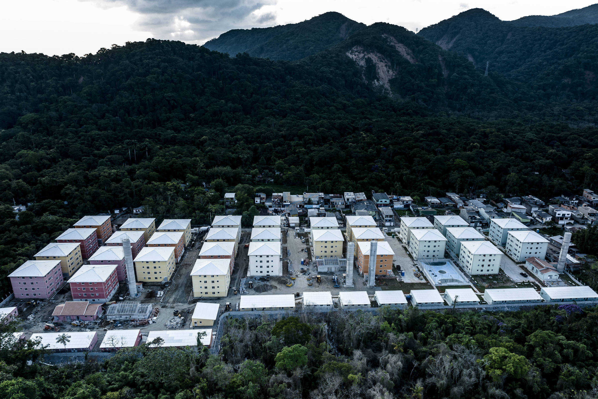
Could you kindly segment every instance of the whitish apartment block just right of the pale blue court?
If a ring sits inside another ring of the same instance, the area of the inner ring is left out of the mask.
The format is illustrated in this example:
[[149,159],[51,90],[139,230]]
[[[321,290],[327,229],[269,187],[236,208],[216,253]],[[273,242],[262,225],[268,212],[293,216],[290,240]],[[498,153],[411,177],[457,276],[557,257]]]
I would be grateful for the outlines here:
[[461,243],[459,263],[470,275],[495,275],[501,269],[502,252],[489,241]]

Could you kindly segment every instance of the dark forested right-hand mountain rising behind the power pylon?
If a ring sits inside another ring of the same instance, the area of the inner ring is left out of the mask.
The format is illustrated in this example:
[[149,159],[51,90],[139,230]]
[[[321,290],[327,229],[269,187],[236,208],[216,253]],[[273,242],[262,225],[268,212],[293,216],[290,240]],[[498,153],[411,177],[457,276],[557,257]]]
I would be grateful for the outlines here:
[[598,25],[528,28],[474,8],[428,26],[418,35],[460,54],[478,71],[490,62],[490,72],[526,84],[545,99],[597,98],[598,44],[594,38]]

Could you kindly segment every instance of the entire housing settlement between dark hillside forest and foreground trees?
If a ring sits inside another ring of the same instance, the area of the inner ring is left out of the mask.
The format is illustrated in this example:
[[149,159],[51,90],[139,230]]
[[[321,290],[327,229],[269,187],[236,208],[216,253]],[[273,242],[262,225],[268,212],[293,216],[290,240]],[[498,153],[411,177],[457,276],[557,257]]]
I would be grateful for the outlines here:
[[55,352],[113,352],[157,338],[193,346],[198,332],[217,351],[224,312],[597,303],[575,276],[587,259],[571,241],[598,224],[594,191],[550,205],[535,196],[423,200],[256,193],[251,226],[234,214],[236,193],[224,195],[226,212],[211,226],[143,208],[86,215],[8,276],[13,293],[0,312],[22,319],[16,339]]

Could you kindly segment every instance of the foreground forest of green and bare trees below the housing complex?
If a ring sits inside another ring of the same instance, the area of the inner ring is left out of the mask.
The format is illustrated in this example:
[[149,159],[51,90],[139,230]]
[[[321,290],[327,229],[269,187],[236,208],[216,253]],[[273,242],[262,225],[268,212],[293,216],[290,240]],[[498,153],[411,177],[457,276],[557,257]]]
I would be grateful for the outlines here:
[[264,315],[227,319],[220,355],[157,339],[64,366],[28,366],[44,351],[2,334],[0,398],[591,399],[597,321],[576,305]]

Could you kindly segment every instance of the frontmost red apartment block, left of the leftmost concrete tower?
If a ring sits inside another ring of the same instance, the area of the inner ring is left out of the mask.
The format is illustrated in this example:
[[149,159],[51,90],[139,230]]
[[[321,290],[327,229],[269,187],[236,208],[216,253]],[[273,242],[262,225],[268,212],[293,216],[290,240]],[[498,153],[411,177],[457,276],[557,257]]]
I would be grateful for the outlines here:
[[117,266],[86,264],[69,279],[74,301],[104,303],[118,291]]

